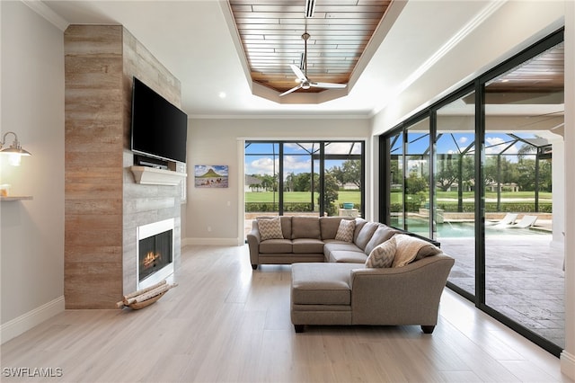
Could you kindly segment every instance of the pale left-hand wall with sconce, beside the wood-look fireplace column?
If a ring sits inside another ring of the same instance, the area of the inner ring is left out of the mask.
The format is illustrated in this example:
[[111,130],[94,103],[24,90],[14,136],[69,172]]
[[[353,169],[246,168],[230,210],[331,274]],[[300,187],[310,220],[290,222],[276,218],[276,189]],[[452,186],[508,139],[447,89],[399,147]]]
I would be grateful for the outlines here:
[[19,167],[0,159],[0,183],[33,197],[0,207],[4,343],[64,308],[64,40],[25,4],[0,6],[1,130],[32,154]]

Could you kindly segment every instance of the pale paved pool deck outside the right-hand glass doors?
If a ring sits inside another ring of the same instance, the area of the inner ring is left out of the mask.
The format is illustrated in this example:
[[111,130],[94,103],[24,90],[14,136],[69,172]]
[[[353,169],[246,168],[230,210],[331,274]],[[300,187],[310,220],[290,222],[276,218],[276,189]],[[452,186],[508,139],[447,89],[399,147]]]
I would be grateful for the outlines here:
[[[488,236],[485,240],[485,303],[564,347],[563,250],[552,245],[550,231],[549,235],[529,236],[528,229],[513,230],[525,230],[526,235]],[[443,251],[456,258],[448,280],[474,293],[473,238],[438,240]]]

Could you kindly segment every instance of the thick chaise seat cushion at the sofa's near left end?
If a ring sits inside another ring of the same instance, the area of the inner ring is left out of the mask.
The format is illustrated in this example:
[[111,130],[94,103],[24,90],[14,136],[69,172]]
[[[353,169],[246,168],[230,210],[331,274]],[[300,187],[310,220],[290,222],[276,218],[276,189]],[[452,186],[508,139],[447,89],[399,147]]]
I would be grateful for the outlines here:
[[350,305],[350,271],[343,263],[294,263],[291,300],[296,305]]

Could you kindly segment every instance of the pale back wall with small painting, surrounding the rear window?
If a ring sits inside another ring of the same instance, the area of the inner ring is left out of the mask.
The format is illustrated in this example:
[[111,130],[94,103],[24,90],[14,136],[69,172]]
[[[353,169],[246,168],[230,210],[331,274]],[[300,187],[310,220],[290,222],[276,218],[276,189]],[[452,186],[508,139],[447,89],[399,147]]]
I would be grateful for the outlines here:
[[[314,118],[189,120],[188,127],[188,200],[183,214],[186,227],[181,235],[182,244],[238,245],[244,240],[240,213],[243,211],[244,139],[367,140],[370,121]],[[369,151],[369,142],[366,147]],[[368,157],[366,162],[371,162]],[[229,187],[195,188],[194,165],[228,165]]]

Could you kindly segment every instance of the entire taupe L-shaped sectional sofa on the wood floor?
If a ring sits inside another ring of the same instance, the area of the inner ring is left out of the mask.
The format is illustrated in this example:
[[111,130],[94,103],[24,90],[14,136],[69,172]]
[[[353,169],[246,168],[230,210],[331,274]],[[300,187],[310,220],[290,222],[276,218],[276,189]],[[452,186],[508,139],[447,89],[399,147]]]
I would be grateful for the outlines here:
[[[277,237],[271,238],[260,231],[268,222],[252,224],[254,270],[265,263],[294,263],[290,316],[296,333],[305,325],[420,325],[431,334],[455,260],[437,243],[362,218],[356,218],[349,241],[337,239],[341,219],[281,217]],[[390,243],[393,262],[385,267],[366,262]]]

